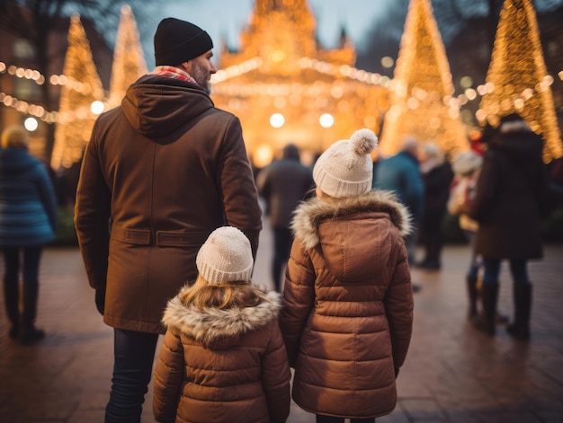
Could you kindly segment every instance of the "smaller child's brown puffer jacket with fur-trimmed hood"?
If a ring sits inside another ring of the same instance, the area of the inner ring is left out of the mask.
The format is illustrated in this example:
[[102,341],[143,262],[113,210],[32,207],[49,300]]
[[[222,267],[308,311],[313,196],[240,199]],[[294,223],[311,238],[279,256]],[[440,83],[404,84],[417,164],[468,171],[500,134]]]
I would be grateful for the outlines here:
[[[184,288],[186,289],[186,288]],[[171,300],[156,362],[153,411],[165,423],[282,422],[290,367],[278,326],[280,295],[246,308],[198,310]]]

